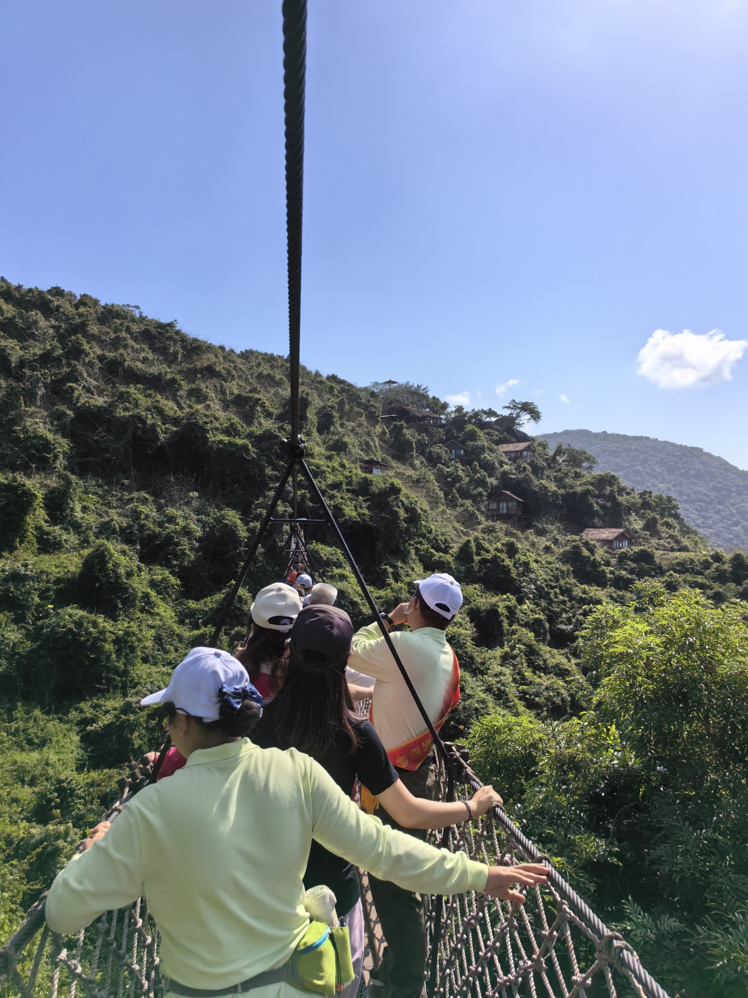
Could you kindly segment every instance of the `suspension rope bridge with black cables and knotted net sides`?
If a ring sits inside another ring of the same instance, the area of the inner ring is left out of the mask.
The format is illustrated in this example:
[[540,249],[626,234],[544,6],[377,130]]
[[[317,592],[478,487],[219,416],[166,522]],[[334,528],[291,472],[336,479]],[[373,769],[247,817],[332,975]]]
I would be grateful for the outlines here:
[[[290,433],[284,441],[287,464],[270,505],[252,541],[246,562],[224,600],[213,633],[217,645],[233,601],[246,577],[265,532],[273,523],[290,525],[292,557],[305,555],[303,524],[297,518],[297,478],[300,472],[324,521],[338,543],[377,621],[379,612],[305,460],[299,436],[299,341],[301,327],[301,223],[304,156],[304,81],[306,67],[306,0],[283,3],[283,69],[285,104],[286,229],[288,248],[288,328]],[[273,517],[289,479],[293,517]],[[301,528],[301,529],[300,529]],[[295,538],[295,541],[294,541]],[[283,550],[281,548],[281,550]],[[279,557],[279,556],[278,556]],[[277,559],[276,559],[277,562]],[[455,798],[458,784],[471,791],[481,781],[470,767],[463,747],[445,743],[400,661],[387,629],[382,636],[413,696],[437,750],[440,797]],[[113,821],[128,801],[158,775],[166,746],[152,766],[136,767],[120,780],[121,795],[103,820]],[[429,998],[668,998],[641,965],[622,936],[607,928],[571,888],[535,844],[502,807],[460,826],[432,832],[434,844],[462,850],[485,863],[545,862],[549,882],[528,890],[527,903],[517,906],[472,891],[452,897],[427,898]],[[382,936],[371,902],[365,871],[360,871],[362,898],[369,934],[370,959],[376,966]],[[77,935],[63,937],[45,923],[46,894],[29,910],[26,920],[0,948],[0,987],[20,998],[161,998],[159,934],[146,898],[120,911],[109,911]],[[622,988],[619,991],[617,989]]]

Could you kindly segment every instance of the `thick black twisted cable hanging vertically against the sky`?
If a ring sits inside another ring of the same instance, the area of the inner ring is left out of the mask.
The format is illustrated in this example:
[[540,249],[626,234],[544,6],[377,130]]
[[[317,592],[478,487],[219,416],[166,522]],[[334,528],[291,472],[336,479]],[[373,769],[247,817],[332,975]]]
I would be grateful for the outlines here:
[[[298,443],[301,334],[301,210],[304,187],[306,0],[283,0],[283,107],[285,114],[285,224],[288,248],[288,380],[291,445]],[[295,516],[295,511],[294,511]]]

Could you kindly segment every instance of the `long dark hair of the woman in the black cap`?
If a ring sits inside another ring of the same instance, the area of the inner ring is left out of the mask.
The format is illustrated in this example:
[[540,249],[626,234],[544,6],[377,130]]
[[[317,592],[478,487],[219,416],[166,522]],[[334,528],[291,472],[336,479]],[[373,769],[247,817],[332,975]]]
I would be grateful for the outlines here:
[[331,665],[321,652],[299,652],[291,639],[288,673],[275,704],[274,734],[284,749],[324,755],[339,735],[351,752],[357,749],[345,668]]

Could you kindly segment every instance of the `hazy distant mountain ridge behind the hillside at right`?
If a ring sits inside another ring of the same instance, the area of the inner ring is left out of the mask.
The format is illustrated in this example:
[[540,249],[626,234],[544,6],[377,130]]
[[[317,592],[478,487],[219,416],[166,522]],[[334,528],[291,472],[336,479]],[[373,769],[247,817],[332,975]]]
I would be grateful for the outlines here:
[[685,520],[715,547],[748,549],[748,471],[701,447],[627,436],[562,430],[540,433],[553,448],[581,447],[597,458],[595,471],[612,471],[635,489],[677,499]]

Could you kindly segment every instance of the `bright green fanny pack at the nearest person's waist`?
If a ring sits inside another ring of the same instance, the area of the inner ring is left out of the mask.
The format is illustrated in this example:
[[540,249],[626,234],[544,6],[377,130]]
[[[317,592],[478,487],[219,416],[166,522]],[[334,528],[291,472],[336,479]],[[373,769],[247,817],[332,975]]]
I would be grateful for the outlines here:
[[333,929],[324,922],[309,922],[285,967],[286,981],[300,991],[340,994],[355,976],[348,926]]

